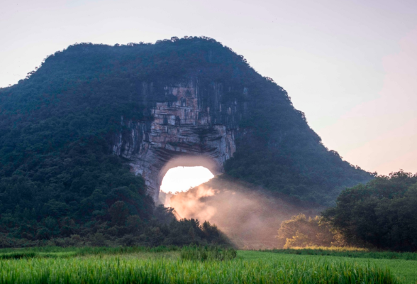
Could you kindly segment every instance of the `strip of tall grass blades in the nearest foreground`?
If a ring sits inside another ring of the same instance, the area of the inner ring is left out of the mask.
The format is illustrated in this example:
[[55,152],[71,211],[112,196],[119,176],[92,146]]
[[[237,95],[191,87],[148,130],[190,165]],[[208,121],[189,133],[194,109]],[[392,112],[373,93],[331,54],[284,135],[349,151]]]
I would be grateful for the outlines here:
[[399,283],[387,269],[327,261],[184,261],[120,256],[0,261],[0,283]]

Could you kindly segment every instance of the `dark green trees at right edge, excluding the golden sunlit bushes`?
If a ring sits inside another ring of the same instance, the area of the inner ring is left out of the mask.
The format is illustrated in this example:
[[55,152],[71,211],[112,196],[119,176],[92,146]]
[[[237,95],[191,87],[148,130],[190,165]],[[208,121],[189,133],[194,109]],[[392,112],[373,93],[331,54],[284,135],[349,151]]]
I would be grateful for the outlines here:
[[350,244],[417,251],[417,175],[399,171],[344,190],[324,212]]

